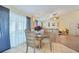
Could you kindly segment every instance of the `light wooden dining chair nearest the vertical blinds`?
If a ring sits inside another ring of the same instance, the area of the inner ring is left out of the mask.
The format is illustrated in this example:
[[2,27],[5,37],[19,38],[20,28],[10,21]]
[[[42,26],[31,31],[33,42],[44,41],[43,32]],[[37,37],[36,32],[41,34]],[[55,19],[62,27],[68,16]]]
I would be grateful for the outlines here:
[[26,36],[26,53],[28,52],[28,47],[33,48],[33,52],[35,53],[36,49],[36,43],[35,43],[35,33],[33,31],[25,30],[25,36]]

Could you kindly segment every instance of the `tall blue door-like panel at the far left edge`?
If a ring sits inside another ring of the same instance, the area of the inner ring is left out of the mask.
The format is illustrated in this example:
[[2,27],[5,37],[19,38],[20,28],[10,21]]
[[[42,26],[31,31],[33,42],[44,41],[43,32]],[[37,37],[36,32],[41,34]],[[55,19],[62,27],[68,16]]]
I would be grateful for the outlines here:
[[9,48],[9,9],[0,6],[0,52]]

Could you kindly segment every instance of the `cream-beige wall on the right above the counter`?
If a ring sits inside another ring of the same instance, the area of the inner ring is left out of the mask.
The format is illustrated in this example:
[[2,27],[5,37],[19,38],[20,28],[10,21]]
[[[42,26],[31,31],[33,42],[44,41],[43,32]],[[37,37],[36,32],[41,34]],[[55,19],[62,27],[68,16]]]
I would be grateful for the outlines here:
[[79,35],[77,24],[79,24],[79,10],[74,10],[66,15],[60,16],[60,27],[69,29],[69,34]]

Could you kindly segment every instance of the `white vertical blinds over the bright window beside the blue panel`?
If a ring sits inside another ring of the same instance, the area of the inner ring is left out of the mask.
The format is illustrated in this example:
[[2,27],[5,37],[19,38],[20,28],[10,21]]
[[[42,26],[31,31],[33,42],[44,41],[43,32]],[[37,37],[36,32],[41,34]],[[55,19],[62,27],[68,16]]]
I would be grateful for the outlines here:
[[10,11],[10,44],[16,47],[25,42],[26,16]]

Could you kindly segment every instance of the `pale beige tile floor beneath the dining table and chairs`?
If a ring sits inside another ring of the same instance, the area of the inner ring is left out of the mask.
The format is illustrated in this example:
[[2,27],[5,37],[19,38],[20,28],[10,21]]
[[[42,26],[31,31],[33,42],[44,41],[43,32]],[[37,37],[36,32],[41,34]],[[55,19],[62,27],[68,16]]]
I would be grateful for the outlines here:
[[[77,53],[75,50],[72,50],[60,43],[52,44],[52,53]],[[29,53],[33,53],[33,48],[29,47]],[[22,44],[16,48],[9,49],[3,53],[26,53],[26,45]],[[36,49],[36,53],[50,53],[48,45],[44,45],[42,49]]]

